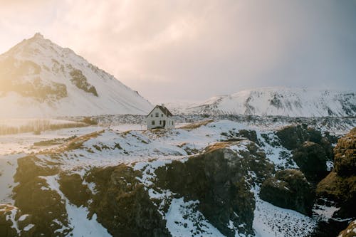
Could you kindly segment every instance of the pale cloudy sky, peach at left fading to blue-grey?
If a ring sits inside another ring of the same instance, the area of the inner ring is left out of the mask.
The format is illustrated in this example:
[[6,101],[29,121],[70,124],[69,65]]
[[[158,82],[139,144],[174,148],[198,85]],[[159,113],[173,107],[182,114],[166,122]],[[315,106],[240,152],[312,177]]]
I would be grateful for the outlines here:
[[356,88],[356,1],[0,0],[0,53],[41,32],[152,102]]

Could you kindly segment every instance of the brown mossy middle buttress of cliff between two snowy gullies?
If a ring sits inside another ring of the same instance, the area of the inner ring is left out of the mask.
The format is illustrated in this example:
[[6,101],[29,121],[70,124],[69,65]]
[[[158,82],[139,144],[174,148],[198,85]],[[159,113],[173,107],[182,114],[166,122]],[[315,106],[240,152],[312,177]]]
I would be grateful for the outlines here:
[[112,236],[170,236],[157,206],[136,179],[140,176],[125,164],[93,169],[87,179],[95,182],[98,193],[90,213],[97,214]]

